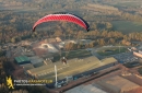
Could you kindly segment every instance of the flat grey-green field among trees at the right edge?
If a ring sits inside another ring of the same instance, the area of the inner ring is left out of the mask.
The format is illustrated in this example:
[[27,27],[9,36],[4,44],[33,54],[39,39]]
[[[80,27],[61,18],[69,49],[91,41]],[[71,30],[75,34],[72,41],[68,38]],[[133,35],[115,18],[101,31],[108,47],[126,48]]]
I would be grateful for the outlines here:
[[142,32],[142,23],[130,21],[113,21],[114,30],[122,33]]

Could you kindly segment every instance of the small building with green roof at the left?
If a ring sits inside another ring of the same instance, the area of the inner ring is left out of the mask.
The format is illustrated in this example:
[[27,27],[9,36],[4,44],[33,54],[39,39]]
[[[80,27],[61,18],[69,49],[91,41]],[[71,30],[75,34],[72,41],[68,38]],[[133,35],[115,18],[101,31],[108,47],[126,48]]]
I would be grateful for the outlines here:
[[31,63],[31,60],[28,57],[26,56],[19,56],[14,58],[15,62],[17,65],[25,65],[25,63]]

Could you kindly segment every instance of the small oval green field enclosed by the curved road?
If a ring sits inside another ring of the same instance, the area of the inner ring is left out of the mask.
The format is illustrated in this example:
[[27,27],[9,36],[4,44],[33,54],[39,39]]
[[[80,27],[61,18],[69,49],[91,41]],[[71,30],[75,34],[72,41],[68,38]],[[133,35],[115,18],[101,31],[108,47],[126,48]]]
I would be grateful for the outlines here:
[[125,47],[120,47],[120,48],[119,47],[108,47],[108,48],[98,50],[97,54],[100,56],[110,56],[110,55],[116,55],[116,54],[126,53],[126,51],[127,51],[127,48],[125,48]]

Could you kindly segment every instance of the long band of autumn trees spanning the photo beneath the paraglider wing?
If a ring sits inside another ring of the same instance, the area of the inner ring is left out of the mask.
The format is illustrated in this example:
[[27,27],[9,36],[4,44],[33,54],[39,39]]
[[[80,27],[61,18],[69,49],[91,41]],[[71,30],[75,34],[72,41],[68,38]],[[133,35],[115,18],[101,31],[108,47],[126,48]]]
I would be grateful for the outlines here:
[[[35,38],[35,39],[42,39],[43,37],[56,37],[56,36],[60,36],[63,38],[91,38],[93,40],[97,40],[95,44],[97,45],[105,45],[105,44],[110,44],[110,43],[119,43],[121,40],[128,40],[128,42],[142,42],[142,33],[129,33],[129,34],[122,34],[121,32],[117,32],[117,31],[91,31],[91,32],[83,32],[83,31],[72,31],[72,30],[67,30],[66,32],[62,32],[61,30],[59,31],[55,31],[52,33],[49,33],[48,31],[46,32],[35,32],[34,34],[32,34],[31,32],[22,32],[22,33],[13,33],[12,36],[11,35],[7,35],[3,36],[3,38],[1,37],[1,43],[17,43],[20,40],[23,39],[27,39],[27,38]],[[104,39],[105,44],[99,43],[98,39]]]

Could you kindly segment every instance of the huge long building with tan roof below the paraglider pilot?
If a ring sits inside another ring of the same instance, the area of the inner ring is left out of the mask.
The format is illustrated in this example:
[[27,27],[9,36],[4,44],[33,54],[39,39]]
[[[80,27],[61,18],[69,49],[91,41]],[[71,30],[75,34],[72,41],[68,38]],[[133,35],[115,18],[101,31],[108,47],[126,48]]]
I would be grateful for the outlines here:
[[99,60],[98,58],[91,56],[84,59],[70,59],[68,65],[63,66],[61,61],[42,66],[27,70],[27,73],[36,79],[49,79],[55,81],[55,65],[57,66],[57,77],[59,81],[66,79],[66,77],[73,77],[73,79],[81,78],[83,75],[90,75],[98,72],[99,70],[109,68],[117,63],[117,60],[113,57]]

